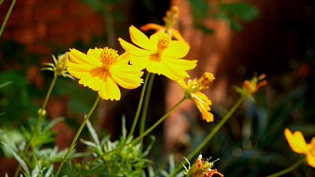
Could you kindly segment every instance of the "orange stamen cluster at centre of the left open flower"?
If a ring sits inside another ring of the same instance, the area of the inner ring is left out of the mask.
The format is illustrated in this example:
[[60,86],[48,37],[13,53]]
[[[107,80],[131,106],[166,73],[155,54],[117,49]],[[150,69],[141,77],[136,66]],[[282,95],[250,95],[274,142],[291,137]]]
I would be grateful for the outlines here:
[[102,52],[100,53],[99,59],[103,63],[104,69],[108,69],[111,65],[113,65],[117,61],[117,54],[118,51],[114,49],[108,49],[105,47]]

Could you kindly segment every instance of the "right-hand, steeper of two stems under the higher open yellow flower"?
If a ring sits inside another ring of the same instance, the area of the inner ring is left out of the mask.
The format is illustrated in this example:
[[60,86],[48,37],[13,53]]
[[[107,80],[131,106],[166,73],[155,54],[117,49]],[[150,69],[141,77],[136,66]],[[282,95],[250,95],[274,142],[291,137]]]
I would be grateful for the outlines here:
[[[144,98],[144,105],[143,105],[143,110],[142,110],[142,115],[141,115],[139,135],[141,135],[144,132],[144,126],[146,123],[149,100],[150,100],[151,90],[152,90],[152,86],[153,86],[154,76],[155,76],[155,74],[153,73],[150,77],[148,89],[146,91],[146,96]],[[143,142],[143,139],[141,139],[141,145],[142,145],[142,142]]]

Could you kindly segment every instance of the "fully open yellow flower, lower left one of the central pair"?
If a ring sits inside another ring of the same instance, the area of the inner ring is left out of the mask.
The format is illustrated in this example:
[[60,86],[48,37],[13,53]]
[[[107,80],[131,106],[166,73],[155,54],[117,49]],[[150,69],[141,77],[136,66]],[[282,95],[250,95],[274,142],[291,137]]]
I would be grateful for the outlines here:
[[98,91],[102,99],[119,100],[121,97],[118,85],[126,89],[135,89],[143,83],[143,72],[132,65],[128,65],[129,52],[119,56],[116,50],[90,49],[88,54],[83,54],[75,49],[70,49],[68,72],[80,79],[79,84],[89,86]]

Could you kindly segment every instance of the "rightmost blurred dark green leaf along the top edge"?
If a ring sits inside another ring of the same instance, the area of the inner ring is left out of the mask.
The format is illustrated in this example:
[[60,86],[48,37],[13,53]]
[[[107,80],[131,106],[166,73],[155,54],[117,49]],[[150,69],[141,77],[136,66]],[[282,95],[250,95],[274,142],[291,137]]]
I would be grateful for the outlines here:
[[246,2],[221,3],[220,8],[238,16],[244,21],[251,21],[259,15],[257,7]]

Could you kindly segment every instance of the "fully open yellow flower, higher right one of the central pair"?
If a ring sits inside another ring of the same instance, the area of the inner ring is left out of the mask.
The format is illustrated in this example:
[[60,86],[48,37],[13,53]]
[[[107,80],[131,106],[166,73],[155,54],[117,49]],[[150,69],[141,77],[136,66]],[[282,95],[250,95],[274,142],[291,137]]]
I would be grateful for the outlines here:
[[162,74],[171,80],[189,77],[186,70],[196,66],[197,60],[181,59],[189,52],[189,45],[184,41],[172,41],[169,34],[158,32],[150,39],[134,26],[129,28],[131,41],[138,48],[119,38],[125,50],[130,50],[130,63],[149,72]]

